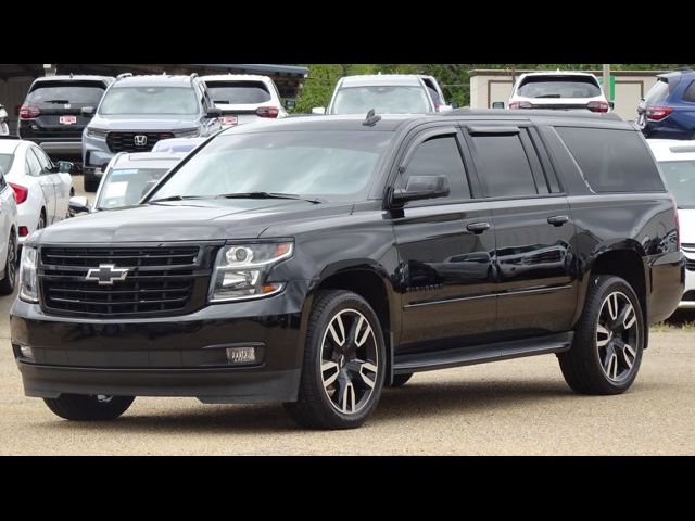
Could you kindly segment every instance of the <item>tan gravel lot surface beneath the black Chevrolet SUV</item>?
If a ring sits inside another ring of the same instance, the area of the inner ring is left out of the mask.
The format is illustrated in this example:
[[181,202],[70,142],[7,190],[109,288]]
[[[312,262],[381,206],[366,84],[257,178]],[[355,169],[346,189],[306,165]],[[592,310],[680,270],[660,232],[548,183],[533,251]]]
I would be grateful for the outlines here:
[[[77,194],[81,178],[74,178]],[[68,422],[24,396],[0,298],[0,454],[695,454],[695,332],[653,333],[632,389],[570,391],[554,355],[416,374],[363,429],[303,431],[280,405],[137,398],[118,420]]]

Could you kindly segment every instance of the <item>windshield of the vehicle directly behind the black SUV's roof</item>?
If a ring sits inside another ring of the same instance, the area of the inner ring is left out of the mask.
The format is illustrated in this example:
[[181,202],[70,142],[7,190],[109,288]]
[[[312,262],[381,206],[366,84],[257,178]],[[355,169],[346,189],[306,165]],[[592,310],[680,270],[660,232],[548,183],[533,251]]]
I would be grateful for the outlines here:
[[421,87],[371,86],[346,87],[336,94],[332,114],[424,114],[431,112],[427,93]]

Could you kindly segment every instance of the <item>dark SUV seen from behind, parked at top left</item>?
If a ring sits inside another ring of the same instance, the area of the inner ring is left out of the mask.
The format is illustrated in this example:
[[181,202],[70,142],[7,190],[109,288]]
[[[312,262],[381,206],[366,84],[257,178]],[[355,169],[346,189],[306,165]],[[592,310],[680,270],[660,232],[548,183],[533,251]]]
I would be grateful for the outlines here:
[[36,78],[20,109],[20,137],[53,158],[80,162],[83,130],[113,81],[109,76]]

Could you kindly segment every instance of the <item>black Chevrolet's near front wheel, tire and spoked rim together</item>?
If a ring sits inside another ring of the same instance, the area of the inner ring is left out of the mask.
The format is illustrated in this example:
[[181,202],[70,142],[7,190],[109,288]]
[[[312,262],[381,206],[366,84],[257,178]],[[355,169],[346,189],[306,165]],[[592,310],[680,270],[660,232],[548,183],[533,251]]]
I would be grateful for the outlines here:
[[316,295],[298,401],[285,404],[308,429],[354,429],[377,406],[387,366],[383,334],[369,304],[350,291]]

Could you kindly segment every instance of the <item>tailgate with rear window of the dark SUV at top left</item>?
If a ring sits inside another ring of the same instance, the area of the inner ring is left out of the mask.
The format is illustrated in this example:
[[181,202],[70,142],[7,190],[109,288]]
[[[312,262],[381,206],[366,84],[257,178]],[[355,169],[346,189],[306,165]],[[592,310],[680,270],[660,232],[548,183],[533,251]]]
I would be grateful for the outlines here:
[[104,90],[101,81],[65,79],[35,82],[24,104],[38,111],[33,122],[38,128],[27,137],[81,137],[83,129],[91,119],[91,116],[83,116],[81,109],[96,109]]

